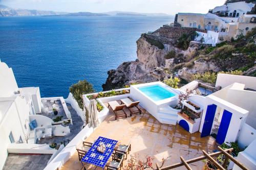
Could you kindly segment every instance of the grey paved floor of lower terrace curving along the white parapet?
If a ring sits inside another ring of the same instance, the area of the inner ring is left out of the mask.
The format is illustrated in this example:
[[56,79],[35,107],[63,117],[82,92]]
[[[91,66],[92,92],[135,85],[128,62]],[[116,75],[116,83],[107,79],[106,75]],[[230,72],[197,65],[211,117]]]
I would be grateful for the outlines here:
[[63,140],[72,140],[80,131],[81,131],[81,127],[83,125],[82,119],[80,118],[80,116],[77,115],[76,111],[72,108],[72,106],[70,104],[67,104],[67,107],[71,113],[71,117],[72,117],[72,122],[73,125],[69,124],[69,128],[70,128],[70,134],[66,135],[66,136],[54,136],[52,138],[43,138],[39,141],[37,141],[38,144],[50,144],[52,142],[60,144],[61,141]]

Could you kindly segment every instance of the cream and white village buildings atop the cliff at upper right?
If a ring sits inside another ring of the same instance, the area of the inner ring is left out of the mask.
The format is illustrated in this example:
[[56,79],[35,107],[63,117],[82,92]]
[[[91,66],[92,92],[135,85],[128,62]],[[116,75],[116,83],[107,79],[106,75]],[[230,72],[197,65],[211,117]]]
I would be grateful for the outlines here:
[[223,40],[236,39],[256,27],[255,4],[227,3],[207,14],[178,13],[172,27],[197,28],[196,41],[215,46]]

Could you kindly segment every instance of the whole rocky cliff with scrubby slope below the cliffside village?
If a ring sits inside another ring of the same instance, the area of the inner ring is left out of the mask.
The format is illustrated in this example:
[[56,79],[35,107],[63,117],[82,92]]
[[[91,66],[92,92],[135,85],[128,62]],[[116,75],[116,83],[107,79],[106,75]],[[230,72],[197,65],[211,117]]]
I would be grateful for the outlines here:
[[217,47],[191,41],[186,50],[181,50],[176,43],[179,40],[177,34],[182,35],[187,30],[172,28],[168,33],[166,29],[150,35],[142,34],[137,40],[138,59],[108,71],[109,77],[102,85],[103,90],[122,88],[132,83],[162,81],[172,76],[191,81],[193,74],[206,71],[239,69],[246,76],[256,76],[256,28],[250,36],[222,42]]

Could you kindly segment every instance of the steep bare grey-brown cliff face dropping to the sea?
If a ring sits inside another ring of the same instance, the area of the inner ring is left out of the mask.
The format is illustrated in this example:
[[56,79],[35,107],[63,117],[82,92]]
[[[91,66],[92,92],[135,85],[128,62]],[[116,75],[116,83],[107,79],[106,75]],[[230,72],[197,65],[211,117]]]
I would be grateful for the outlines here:
[[131,83],[162,81],[171,76],[164,68],[166,48],[161,50],[143,37],[138,39],[137,46],[136,61],[124,62],[117,69],[108,71],[109,77],[102,85],[104,91],[123,88]]

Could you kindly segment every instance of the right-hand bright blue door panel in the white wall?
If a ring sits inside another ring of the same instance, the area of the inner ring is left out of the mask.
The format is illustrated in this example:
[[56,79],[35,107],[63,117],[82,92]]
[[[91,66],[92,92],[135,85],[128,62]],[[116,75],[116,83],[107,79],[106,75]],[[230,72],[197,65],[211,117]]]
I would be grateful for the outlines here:
[[227,110],[224,110],[222,118],[221,118],[220,128],[218,130],[218,134],[217,134],[217,138],[216,138],[216,141],[219,144],[222,144],[225,141],[231,117],[232,117],[232,113],[230,113]]

